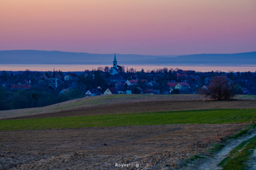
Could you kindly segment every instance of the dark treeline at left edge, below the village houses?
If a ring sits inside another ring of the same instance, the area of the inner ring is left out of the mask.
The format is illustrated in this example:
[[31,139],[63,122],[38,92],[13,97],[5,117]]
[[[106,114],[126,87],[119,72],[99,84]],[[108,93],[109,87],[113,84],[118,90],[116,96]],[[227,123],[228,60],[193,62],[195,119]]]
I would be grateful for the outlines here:
[[65,94],[56,95],[47,91],[9,91],[0,87],[0,94],[0,110],[43,107],[84,97],[80,89],[72,89]]

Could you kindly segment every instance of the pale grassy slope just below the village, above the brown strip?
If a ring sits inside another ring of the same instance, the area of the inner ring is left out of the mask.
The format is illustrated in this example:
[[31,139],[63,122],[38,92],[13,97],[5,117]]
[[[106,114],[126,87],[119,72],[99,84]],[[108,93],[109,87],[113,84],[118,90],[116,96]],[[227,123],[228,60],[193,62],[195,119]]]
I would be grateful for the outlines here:
[[141,95],[141,94],[114,94],[114,95],[97,95],[87,98],[75,99],[67,102],[58,103],[46,107],[4,110],[0,111],[0,118],[12,116],[34,115],[42,113],[60,112],[65,110],[80,109],[84,107],[131,103],[131,102],[148,102],[148,101],[187,101],[203,100],[199,94],[173,94],[173,95]]

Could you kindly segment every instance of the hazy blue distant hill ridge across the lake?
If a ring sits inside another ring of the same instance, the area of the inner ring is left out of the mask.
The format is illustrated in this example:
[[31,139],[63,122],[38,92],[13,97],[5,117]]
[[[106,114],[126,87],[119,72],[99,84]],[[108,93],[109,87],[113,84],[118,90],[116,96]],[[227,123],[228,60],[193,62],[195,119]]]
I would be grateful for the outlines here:
[[[90,54],[60,51],[0,51],[0,64],[94,64],[111,65],[114,54]],[[133,55],[117,54],[120,65],[255,65],[256,52],[236,54]]]

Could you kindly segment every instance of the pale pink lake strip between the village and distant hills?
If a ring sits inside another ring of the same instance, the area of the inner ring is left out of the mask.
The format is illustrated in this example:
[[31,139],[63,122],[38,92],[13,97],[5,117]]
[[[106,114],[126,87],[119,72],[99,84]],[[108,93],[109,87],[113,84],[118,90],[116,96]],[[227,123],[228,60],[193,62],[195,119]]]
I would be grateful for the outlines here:
[[[51,70],[53,71],[53,68],[55,70],[61,70],[61,71],[84,71],[86,69],[92,70],[92,69],[97,69],[99,66],[105,66],[105,65],[75,65],[75,64],[0,64],[0,70],[6,70],[6,71],[24,71],[26,69],[30,69],[31,71],[48,71]],[[112,65],[108,65],[111,67]],[[125,67],[131,68],[133,67],[136,70],[141,70],[142,68],[146,70],[153,70],[156,68],[163,68],[167,67],[168,69],[170,68],[180,68],[183,70],[195,70],[195,71],[216,71],[216,70],[221,70],[221,71],[226,71],[228,72],[229,70],[232,71],[251,71],[254,72],[256,71],[256,65],[241,65],[241,66],[205,66],[205,65],[195,65],[195,66],[160,66],[160,65],[125,65]]]

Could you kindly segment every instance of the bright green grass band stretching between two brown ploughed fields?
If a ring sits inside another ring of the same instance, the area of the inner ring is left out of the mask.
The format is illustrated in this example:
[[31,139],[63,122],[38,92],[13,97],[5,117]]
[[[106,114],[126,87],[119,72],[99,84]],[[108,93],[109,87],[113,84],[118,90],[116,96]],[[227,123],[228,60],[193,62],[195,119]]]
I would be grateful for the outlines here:
[[188,110],[0,120],[0,131],[256,121],[256,109]]

